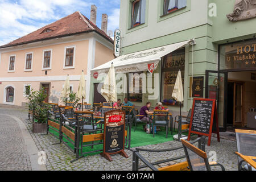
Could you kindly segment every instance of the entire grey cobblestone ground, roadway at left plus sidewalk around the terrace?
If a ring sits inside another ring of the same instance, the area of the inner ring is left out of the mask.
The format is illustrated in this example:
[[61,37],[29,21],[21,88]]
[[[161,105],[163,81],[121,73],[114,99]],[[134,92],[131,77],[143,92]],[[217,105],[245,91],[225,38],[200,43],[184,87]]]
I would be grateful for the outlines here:
[[[22,109],[7,109],[0,107],[0,114],[14,115],[20,118],[26,125],[32,138],[39,151],[46,152],[46,168],[49,171],[59,170],[131,170],[132,165],[132,152],[126,150],[129,158],[123,158],[121,155],[113,155],[113,162],[109,162],[105,158],[102,158],[100,154],[87,156],[74,163],[70,163],[70,160],[75,159],[73,154],[64,144],[55,144],[58,140],[51,135],[33,134],[32,125],[28,123],[27,111]],[[152,137],[148,135],[148,137]],[[13,119],[9,117],[3,117],[0,115],[0,170],[31,170],[30,160],[27,155],[27,151],[24,147],[22,135],[19,131],[19,126]],[[141,148],[170,148],[179,146],[181,143],[177,141],[154,144],[150,146],[143,146]],[[207,154],[209,151],[217,152],[217,162],[224,165],[227,171],[237,170],[237,156],[234,154],[236,151],[236,142],[231,140],[221,139],[221,142],[217,142],[217,138],[212,138],[211,146],[206,147]],[[158,155],[150,154],[148,152],[141,152],[141,154],[150,162],[158,160],[168,159],[174,156],[184,155],[184,151],[178,150],[175,152],[160,152]],[[175,162],[181,162],[185,159],[180,159]],[[157,168],[173,164],[175,162],[160,164],[155,166]],[[147,170],[148,168],[143,168]],[[220,169],[220,168],[216,168]]]

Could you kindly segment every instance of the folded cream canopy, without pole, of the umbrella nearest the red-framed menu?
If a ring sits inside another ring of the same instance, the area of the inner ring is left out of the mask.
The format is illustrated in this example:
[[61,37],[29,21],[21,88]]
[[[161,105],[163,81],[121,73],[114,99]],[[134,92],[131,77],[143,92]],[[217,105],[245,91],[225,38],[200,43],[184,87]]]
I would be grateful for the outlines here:
[[181,78],[181,72],[179,70],[176,82],[174,85],[174,91],[172,92],[172,97],[177,101],[177,102],[183,102],[183,87],[182,87],[182,78]]

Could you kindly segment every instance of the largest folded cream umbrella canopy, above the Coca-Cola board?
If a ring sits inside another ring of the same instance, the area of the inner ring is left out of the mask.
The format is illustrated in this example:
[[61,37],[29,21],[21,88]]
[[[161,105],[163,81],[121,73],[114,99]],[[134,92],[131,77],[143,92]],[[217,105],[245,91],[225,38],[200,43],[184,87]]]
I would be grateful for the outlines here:
[[109,69],[108,75],[105,78],[104,84],[101,88],[101,95],[107,102],[117,101],[117,85],[115,82],[115,69],[113,63]]

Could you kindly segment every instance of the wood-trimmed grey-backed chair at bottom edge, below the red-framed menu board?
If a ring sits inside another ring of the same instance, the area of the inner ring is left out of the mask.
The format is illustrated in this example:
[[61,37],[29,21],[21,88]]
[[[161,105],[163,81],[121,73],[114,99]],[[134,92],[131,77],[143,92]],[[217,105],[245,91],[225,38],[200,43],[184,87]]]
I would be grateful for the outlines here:
[[200,150],[183,139],[181,139],[181,143],[190,171],[212,171],[211,167],[214,166],[220,166],[221,170],[225,171],[225,168],[221,164],[216,162],[209,163],[207,154],[203,150]]

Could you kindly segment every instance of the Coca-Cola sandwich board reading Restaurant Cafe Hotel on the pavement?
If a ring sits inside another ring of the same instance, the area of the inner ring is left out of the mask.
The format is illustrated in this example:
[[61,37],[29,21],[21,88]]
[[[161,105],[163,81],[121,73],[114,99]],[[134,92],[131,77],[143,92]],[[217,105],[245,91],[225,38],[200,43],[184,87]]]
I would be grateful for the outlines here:
[[110,110],[104,114],[104,149],[101,153],[109,161],[110,154],[125,153],[125,111]]

